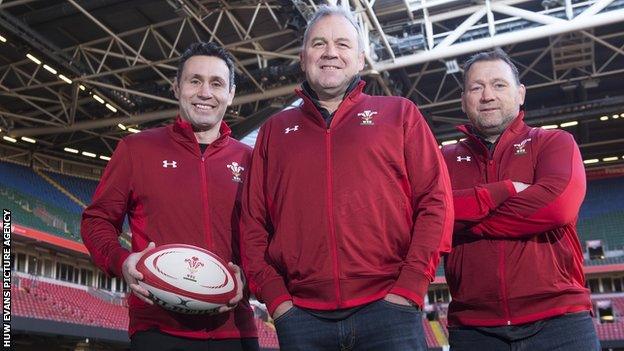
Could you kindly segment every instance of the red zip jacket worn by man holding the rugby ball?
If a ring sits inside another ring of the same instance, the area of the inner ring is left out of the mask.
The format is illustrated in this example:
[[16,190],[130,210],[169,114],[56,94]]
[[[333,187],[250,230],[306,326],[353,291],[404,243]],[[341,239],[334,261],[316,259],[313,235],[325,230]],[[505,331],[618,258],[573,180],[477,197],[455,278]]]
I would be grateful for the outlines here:
[[[124,138],[82,215],[81,234],[95,263],[121,277],[130,252],[118,235],[128,214],[132,251],[150,241],[157,246],[184,243],[204,247],[224,260],[239,262],[240,194],[251,149],[232,139],[222,123],[221,136],[204,154],[191,125],[175,124]],[[237,163],[240,168],[231,168]],[[130,335],[158,328],[188,338],[255,337],[246,299],[233,312],[217,316],[185,315],[129,298]]]

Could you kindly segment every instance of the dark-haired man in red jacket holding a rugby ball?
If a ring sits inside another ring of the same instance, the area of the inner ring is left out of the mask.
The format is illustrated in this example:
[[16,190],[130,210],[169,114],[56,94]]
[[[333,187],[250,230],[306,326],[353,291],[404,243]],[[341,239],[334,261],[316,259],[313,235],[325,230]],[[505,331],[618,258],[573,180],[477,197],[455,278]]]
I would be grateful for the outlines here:
[[[82,238],[95,263],[132,290],[133,350],[258,350],[238,266],[232,264],[241,290],[212,315],[167,311],[138,285],[136,263],[153,243],[191,244],[240,261],[240,193],[251,149],[232,139],[222,121],[234,98],[232,56],[213,43],[191,45],[173,88],[178,118],[119,142],[84,211]],[[132,251],[118,241],[126,215]]]

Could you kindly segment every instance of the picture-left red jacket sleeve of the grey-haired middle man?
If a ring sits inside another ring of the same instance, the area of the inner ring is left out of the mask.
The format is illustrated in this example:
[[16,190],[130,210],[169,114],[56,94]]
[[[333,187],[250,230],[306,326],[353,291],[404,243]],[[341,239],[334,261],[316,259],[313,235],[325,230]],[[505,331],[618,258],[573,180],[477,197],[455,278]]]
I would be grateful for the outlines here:
[[251,291],[266,303],[269,313],[273,314],[280,303],[292,300],[292,297],[267,254],[272,226],[265,194],[265,127],[266,124],[258,133],[251,158],[251,171],[243,191],[241,256]]

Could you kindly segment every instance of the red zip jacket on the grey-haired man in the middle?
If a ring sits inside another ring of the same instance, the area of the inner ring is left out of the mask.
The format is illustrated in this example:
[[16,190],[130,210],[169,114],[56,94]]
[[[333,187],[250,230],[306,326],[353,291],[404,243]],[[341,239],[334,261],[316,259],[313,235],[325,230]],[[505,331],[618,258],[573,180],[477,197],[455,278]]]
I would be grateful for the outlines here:
[[450,248],[442,155],[409,100],[360,82],[331,125],[307,96],[261,128],[244,194],[243,265],[271,313],[334,310],[392,292],[422,304]]

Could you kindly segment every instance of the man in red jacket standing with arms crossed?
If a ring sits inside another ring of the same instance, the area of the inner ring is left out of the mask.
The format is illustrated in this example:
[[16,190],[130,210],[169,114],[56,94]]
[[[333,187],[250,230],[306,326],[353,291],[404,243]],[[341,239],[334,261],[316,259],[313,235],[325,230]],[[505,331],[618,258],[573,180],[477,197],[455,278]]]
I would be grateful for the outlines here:
[[531,128],[500,49],[466,62],[467,138],[443,148],[455,233],[445,259],[449,341],[464,350],[600,350],[576,220],[585,170],[574,138]]

